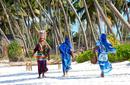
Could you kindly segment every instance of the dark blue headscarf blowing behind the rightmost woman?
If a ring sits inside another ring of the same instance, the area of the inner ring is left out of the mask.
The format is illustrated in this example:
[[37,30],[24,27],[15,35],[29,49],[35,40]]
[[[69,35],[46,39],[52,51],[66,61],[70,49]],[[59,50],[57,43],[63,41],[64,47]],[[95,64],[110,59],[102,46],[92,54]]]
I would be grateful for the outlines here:
[[115,52],[115,48],[113,48],[112,44],[108,42],[106,34],[101,34],[100,42],[105,46],[107,52]]

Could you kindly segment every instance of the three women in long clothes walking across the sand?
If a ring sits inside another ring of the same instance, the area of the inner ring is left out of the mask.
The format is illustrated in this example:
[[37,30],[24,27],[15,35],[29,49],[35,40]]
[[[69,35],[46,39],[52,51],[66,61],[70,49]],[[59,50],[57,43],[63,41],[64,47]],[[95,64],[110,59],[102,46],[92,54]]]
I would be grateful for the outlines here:
[[[44,34],[46,32],[42,33]],[[33,53],[35,54],[37,52],[38,78],[41,78],[41,74],[42,77],[45,77],[44,74],[48,71],[47,58],[50,60],[49,51],[50,48],[46,44],[46,36],[40,37],[39,43],[36,45]],[[72,44],[67,36],[65,37],[65,41],[60,44],[59,51],[61,53],[63,76],[65,77],[67,76],[68,71],[71,69],[71,61],[74,57]],[[108,53],[115,53],[116,49],[113,48],[112,45],[107,41],[106,34],[101,34],[99,40],[96,42],[96,47],[94,48],[93,52],[94,54],[98,52],[97,63],[101,69],[101,77],[104,77],[105,73],[112,70],[112,65],[108,60]]]

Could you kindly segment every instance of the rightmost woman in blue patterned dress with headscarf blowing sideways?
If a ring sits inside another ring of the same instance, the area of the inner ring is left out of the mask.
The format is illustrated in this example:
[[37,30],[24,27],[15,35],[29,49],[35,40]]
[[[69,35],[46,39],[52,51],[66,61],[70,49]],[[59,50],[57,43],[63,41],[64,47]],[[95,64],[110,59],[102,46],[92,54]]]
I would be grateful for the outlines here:
[[98,52],[98,64],[101,69],[101,77],[104,77],[105,73],[112,70],[112,65],[108,60],[108,53],[115,53],[116,49],[112,47],[111,43],[107,40],[106,34],[101,34],[99,40],[96,42],[94,52]]

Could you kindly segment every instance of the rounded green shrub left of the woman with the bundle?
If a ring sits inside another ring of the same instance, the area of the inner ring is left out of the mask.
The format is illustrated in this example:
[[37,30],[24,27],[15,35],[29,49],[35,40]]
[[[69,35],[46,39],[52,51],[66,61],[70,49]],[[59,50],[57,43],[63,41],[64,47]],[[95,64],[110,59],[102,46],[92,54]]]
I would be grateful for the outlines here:
[[17,41],[12,41],[8,46],[8,56],[10,61],[23,60],[23,49]]

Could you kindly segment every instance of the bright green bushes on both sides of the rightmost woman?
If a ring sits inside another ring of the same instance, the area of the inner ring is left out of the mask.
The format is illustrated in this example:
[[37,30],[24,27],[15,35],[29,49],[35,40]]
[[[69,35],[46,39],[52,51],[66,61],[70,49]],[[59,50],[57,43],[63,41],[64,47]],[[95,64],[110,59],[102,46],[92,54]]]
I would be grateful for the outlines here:
[[[92,51],[88,50],[85,51],[83,54],[80,54],[76,58],[76,61],[78,63],[82,63],[90,60],[92,57]],[[109,54],[108,58],[110,62],[122,62],[125,60],[130,60],[130,44],[122,44],[116,46],[116,54]]]

